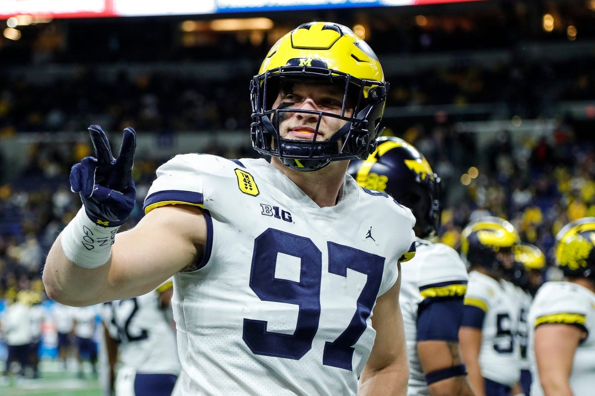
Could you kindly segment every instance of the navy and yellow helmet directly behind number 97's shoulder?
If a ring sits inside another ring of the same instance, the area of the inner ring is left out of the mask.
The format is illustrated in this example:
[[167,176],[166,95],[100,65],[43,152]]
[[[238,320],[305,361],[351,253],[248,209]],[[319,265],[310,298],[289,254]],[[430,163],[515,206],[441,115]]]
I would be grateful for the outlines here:
[[354,160],[347,169],[364,188],[390,194],[410,208],[415,232],[424,238],[440,226],[440,178],[425,157],[408,142],[396,137],[378,138],[378,147],[366,160]]

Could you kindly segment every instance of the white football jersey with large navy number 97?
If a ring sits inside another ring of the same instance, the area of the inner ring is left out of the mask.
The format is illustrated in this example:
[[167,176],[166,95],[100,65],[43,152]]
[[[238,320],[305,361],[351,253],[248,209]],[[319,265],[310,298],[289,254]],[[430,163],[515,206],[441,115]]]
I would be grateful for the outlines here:
[[208,226],[198,269],[174,276],[181,393],[355,395],[411,211],[349,175],[321,208],[264,159],[184,154],[157,176],[147,213],[198,205]]

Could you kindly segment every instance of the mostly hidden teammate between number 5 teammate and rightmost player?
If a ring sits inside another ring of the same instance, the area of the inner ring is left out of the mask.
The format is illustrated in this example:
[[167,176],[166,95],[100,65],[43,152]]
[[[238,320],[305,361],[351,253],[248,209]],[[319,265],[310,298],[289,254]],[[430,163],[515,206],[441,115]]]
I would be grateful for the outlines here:
[[533,302],[533,297],[543,284],[546,270],[546,256],[537,246],[531,243],[520,243],[515,251],[515,265],[511,274],[515,284],[515,293],[519,304],[519,323],[516,338],[521,352],[521,388],[525,395],[530,394],[531,366],[527,356],[529,327],[527,314]]

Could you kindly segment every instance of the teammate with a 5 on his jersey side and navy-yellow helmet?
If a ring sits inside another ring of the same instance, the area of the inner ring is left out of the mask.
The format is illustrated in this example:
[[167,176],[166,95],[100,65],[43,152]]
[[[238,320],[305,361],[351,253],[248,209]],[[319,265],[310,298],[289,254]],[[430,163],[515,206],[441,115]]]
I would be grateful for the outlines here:
[[472,221],[462,232],[461,250],[471,271],[459,338],[478,396],[507,396],[513,387],[515,393],[520,389],[519,306],[514,286],[503,279],[518,243],[512,224],[498,217]]

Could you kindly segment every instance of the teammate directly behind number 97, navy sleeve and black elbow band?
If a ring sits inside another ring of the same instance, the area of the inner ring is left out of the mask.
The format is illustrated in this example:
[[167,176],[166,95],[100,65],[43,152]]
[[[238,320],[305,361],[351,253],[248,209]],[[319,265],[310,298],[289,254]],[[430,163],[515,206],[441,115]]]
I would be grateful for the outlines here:
[[459,254],[428,238],[439,227],[440,178],[408,142],[381,137],[347,169],[364,188],[387,192],[415,216],[415,257],[401,267],[400,306],[409,356],[409,396],[473,395],[459,351],[468,274]]

